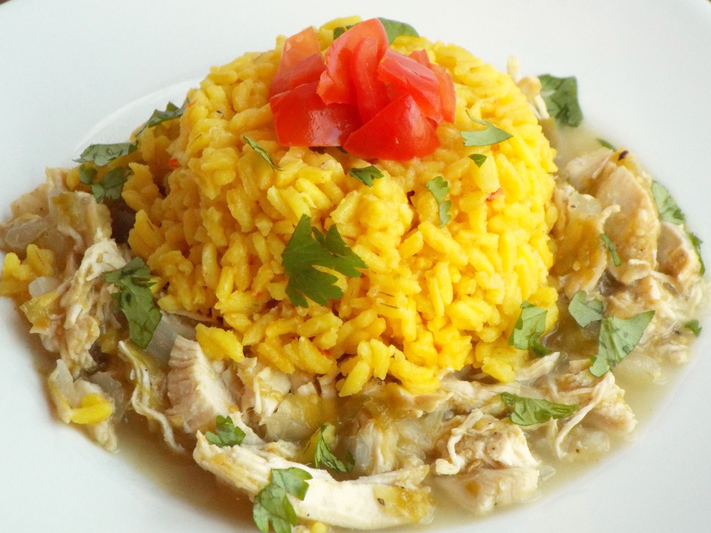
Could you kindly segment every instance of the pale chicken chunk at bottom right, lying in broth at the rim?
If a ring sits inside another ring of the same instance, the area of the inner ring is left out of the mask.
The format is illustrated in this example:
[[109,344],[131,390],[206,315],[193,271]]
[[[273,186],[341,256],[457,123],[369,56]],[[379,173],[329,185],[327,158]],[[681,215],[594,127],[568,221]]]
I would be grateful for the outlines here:
[[437,485],[474,515],[526,500],[538,488],[538,468],[479,468],[470,474],[439,476]]

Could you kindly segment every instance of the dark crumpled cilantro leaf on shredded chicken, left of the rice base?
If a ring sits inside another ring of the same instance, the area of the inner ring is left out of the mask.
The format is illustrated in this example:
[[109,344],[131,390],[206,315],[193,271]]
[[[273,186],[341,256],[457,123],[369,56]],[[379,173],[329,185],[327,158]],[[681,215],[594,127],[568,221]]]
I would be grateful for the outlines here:
[[140,257],[135,257],[123,268],[105,272],[104,281],[119,289],[113,296],[129,323],[129,336],[145,349],[161,321],[161,311],[156,307],[151,292],[151,271]]

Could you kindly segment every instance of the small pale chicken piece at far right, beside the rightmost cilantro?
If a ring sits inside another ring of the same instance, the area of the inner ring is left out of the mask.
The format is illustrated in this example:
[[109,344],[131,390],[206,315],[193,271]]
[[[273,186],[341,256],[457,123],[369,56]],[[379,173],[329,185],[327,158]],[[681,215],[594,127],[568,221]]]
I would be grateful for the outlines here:
[[662,222],[657,246],[659,271],[675,278],[683,291],[688,289],[697,279],[701,263],[683,226]]

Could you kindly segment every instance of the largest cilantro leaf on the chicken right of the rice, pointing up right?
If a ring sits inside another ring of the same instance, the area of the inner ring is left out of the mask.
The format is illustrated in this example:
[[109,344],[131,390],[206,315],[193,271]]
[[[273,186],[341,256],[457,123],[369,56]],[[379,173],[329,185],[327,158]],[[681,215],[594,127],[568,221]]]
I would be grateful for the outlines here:
[[603,318],[597,340],[597,355],[592,357],[590,367],[592,375],[600,377],[623,360],[642,338],[652,318],[654,311],[639,313],[626,320],[616,316]]

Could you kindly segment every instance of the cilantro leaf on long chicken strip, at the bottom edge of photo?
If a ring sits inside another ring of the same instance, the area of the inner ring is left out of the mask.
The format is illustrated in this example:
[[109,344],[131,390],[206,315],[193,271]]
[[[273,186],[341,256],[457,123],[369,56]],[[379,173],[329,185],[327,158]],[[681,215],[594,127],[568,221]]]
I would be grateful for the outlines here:
[[311,474],[301,468],[272,468],[272,481],[255,497],[252,518],[262,533],[269,531],[269,522],[276,533],[291,533],[296,525],[296,511],[287,494],[304,500]]

